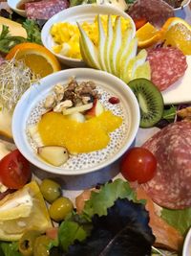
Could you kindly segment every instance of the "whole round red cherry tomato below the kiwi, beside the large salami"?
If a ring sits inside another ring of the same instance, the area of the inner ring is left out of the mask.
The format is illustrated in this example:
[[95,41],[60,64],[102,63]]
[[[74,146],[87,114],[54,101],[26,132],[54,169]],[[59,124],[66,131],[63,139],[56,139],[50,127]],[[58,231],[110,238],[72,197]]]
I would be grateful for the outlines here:
[[139,184],[145,183],[154,177],[157,159],[151,151],[136,147],[125,153],[120,169],[128,181],[137,180]]

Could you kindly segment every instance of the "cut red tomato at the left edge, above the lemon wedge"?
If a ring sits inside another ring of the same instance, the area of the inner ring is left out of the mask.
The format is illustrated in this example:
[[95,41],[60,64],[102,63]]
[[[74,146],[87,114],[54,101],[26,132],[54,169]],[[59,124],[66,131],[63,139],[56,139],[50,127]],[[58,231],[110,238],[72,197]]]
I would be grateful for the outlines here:
[[20,151],[11,151],[0,161],[0,180],[11,188],[22,188],[31,178],[29,161]]

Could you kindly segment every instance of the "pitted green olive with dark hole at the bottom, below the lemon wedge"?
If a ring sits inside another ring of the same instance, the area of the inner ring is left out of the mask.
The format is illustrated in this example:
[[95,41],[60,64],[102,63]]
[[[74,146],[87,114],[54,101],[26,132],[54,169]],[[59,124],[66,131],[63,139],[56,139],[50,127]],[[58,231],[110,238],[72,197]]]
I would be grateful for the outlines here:
[[28,230],[22,235],[18,243],[18,249],[23,256],[33,255],[34,242],[40,235],[40,232],[37,230]]

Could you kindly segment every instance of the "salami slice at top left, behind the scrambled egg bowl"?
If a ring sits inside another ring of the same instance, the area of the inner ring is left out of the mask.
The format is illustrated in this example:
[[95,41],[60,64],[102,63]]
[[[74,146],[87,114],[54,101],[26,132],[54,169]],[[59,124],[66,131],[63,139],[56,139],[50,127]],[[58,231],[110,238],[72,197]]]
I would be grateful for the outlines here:
[[49,19],[68,7],[67,0],[42,0],[25,4],[27,17],[30,19]]

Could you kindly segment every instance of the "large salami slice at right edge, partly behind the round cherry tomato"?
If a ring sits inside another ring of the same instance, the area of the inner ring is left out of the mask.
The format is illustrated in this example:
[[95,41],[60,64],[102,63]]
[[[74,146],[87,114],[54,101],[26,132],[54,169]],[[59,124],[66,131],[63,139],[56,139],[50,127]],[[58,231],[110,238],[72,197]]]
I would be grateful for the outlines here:
[[160,206],[184,209],[191,206],[191,122],[162,128],[142,147],[158,160],[157,173],[141,185]]

